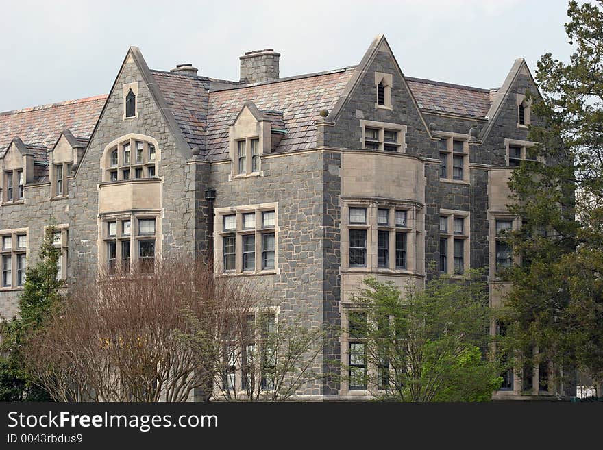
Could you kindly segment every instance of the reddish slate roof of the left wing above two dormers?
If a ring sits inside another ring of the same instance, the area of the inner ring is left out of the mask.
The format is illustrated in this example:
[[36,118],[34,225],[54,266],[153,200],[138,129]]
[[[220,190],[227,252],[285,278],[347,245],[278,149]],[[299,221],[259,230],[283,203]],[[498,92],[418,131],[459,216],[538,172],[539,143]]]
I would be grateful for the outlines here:
[[0,112],[0,157],[4,155],[15,136],[19,136],[28,147],[38,145],[46,149],[55,144],[65,128],[69,128],[78,138],[88,138],[93,132],[106,99],[107,95],[97,95],[86,99]]

